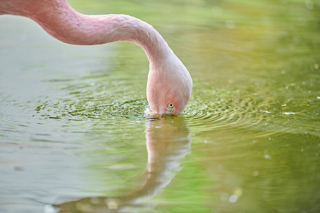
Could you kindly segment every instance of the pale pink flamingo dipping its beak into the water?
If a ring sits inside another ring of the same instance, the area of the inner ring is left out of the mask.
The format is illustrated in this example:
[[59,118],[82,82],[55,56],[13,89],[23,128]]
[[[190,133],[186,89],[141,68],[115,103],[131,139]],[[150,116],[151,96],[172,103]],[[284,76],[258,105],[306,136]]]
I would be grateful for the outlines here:
[[152,112],[180,114],[192,91],[187,68],[148,23],[128,15],[84,15],[65,0],[1,0],[0,15],[31,18],[62,42],[79,45],[131,41],[147,54],[147,99]]

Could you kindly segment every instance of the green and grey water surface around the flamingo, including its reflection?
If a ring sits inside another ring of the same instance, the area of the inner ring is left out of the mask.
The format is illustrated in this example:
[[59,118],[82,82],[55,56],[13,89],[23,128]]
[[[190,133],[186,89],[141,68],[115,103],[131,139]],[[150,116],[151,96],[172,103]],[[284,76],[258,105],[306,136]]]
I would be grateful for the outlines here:
[[69,4],[152,24],[192,96],[150,117],[139,46],[0,16],[0,212],[320,210],[319,1]]

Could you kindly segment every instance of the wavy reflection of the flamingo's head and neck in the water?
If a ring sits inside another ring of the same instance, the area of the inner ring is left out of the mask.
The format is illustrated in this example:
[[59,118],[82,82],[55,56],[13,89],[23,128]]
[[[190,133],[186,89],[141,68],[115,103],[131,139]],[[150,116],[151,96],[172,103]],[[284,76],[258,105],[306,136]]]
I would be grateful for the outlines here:
[[148,208],[148,201],[166,187],[180,170],[180,160],[191,147],[190,131],[180,116],[148,116],[146,145],[148,176],[140,190],[120,197],[91,197],[54,205],[58,212],[122,212]]

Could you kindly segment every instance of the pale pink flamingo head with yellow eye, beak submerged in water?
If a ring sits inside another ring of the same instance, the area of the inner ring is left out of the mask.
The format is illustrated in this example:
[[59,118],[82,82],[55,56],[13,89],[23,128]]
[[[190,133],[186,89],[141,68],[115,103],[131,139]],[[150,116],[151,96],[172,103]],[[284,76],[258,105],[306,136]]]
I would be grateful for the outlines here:
[[147,99],[152,112],[181,114],[190,99],[191,91],[191,76],[176,56],[160,66],[150,62]]

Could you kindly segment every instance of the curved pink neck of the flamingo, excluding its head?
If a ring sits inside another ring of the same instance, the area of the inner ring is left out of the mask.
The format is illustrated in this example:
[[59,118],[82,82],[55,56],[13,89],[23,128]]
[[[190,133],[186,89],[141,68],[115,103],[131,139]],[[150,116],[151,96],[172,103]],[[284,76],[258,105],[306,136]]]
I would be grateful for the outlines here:
[[84,15],[65,0],[4,0],[1,13],[29,17],[65,43],[94,45],[131,41],[146,52],[150,65],[165,60],[172,52],[162,36],[140,19],[118,14]]

